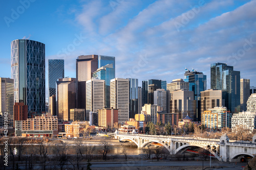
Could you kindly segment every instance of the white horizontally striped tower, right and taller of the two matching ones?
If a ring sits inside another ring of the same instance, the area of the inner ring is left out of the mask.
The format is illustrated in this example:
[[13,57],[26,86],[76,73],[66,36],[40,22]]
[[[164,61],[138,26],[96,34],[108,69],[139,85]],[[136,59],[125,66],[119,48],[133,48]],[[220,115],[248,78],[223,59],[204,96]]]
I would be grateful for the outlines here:
[[111,80],[110,102],[111,108],[118,109],[118,123],[129,121],[129,79]]

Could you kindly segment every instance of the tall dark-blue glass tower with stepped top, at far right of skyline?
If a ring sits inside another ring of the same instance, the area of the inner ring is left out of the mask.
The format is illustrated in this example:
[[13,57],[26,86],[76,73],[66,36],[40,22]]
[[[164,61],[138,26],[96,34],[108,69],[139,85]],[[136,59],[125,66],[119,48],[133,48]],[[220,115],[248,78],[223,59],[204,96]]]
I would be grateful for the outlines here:
[[225,63],[210,65],[210,88],[222,90],[225,107],[231,113],[240,111],[240,71]]

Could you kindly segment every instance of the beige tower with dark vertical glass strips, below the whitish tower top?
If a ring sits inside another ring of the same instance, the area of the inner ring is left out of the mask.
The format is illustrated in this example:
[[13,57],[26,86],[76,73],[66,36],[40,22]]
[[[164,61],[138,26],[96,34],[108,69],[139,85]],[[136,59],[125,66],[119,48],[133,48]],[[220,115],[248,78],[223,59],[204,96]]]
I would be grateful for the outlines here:
[[194,100],[194,92],[181,89],[173,91],[172,94],[172,100],[170,100],[170,113],[179,113],[179,119],[183,119],[188,115],[196,120],[196,101]]

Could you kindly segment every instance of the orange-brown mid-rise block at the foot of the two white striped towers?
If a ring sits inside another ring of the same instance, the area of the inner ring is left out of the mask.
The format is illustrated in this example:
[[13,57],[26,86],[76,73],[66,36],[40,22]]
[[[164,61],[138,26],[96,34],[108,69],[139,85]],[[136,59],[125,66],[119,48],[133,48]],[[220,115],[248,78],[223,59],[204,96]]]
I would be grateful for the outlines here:
[[104,108],[98,110],[98,126],[113,128],[118,123],[118,109]]

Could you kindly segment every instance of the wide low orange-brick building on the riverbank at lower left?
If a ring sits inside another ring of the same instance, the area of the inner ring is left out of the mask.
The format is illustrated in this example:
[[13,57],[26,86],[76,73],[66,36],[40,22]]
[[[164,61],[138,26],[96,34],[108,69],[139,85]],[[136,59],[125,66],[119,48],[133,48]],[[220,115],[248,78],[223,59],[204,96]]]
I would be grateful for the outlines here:
[[15,136],[57,137],[58,118],[49,114],[15,120]]

